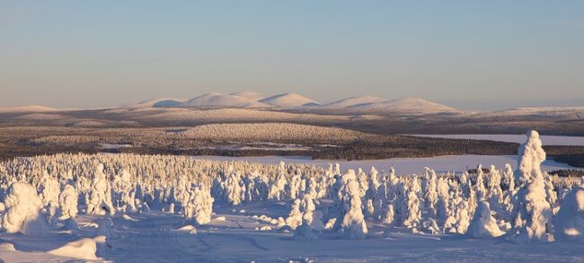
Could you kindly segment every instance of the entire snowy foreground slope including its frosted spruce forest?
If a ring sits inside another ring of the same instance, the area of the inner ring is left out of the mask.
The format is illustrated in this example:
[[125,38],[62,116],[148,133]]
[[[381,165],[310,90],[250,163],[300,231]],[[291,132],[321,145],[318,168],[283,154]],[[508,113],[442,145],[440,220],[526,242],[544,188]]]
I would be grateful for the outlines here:
[[547,174],[539,136],[527,136],[516,171],[478,165],[472,174],[134,154],[16,158],[0,162],[0,259],[580,259],[582,180]]

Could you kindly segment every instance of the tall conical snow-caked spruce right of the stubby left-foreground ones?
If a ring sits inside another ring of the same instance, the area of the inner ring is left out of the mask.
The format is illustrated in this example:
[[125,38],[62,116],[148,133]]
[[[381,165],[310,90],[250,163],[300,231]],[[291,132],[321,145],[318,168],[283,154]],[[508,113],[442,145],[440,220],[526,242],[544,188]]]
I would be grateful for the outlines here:
[[93,181],[87,200],[88,215],[114,215],[115,210],[111,204],[110,181],[103,172],[103,164],[98,163],[93,171]]

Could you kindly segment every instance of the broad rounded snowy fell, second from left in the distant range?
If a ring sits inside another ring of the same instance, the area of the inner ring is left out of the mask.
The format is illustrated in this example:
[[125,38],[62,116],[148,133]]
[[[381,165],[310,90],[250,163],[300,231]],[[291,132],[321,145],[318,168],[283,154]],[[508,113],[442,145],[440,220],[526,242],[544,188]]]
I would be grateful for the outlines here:
[[182,102],[176,107],[181,108],[265,108],[269,107],[258,101],[247,98],[212,92],[200,95],[190,101]]

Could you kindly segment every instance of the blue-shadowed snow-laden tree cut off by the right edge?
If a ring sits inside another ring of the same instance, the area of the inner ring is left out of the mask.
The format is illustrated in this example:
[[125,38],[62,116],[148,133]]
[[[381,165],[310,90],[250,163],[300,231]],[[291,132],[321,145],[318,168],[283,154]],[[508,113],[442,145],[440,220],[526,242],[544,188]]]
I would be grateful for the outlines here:
[[554,237],[560,241],[584,241],[584,188],[572,188],[555,216]]

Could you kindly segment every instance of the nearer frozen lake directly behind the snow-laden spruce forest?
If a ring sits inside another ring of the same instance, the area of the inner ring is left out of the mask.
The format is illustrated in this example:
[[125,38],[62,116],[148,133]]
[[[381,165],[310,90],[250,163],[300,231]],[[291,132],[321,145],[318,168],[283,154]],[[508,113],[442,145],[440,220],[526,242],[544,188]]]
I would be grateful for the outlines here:
[[[288,156],[266,156],[266,157],[228,157],[228,156],[192,156],[195,159],[217,160],[217,161],[248,161],[260,162],[263,164],[278,164],[280,161],[286,163],[305,163],[313,164],[320,167],[328,167],[330,163],[339,162],[341,171],[347,169],[362,168],[369,171],[375,166],[378,171],[389,171],[394,166],[397,173],[420,173],[424,167],[429,167],[438,172],[456,171],[462,172],[475,168],[479,163],[483,167],[489,167],[491,164],[499,169],[503,169],[506,163],[511,164],[513,169],[518,165],[517,156],[515,155],[456,155],[442,156],[433,158],[395,158],[385,160],[365,160],[365,161],[342,161],[342,160],[311,160],[310,157],[288,157]],[[573,168],[562,162],[546,160],[542,169],[544,171],[554,171],[560,169]]]

